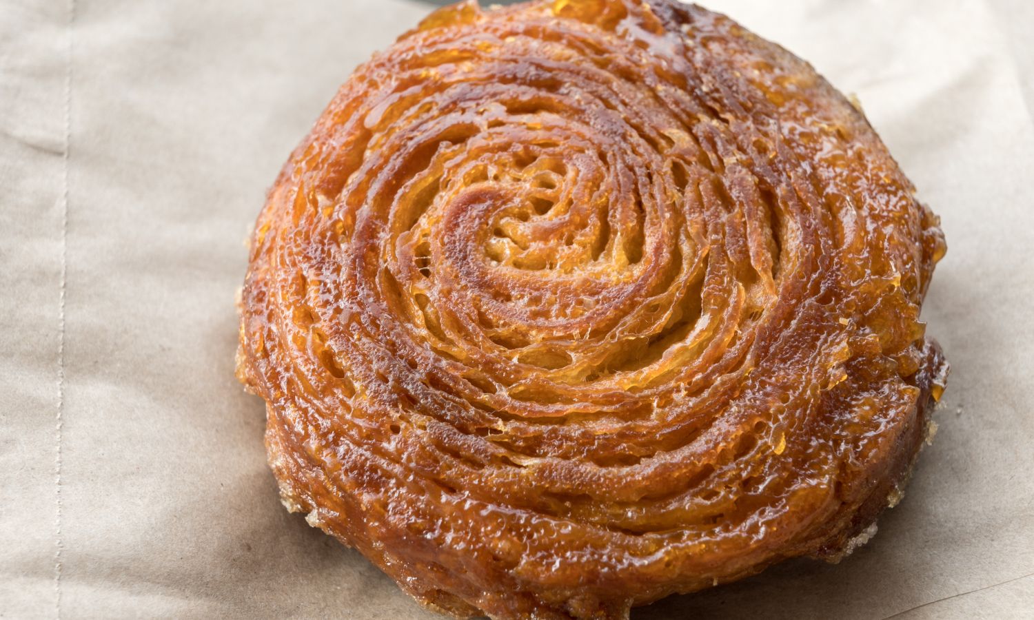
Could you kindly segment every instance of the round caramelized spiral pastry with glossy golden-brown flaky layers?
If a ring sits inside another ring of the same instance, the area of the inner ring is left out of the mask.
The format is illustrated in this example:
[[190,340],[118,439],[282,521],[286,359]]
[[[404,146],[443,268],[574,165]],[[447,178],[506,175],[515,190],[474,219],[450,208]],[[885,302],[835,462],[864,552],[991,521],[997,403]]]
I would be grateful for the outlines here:
[[442,9],[361,66],[251,239],[283,502],[460,617],[837,559],[947,365],[945,244],[811,66],[673,0]]

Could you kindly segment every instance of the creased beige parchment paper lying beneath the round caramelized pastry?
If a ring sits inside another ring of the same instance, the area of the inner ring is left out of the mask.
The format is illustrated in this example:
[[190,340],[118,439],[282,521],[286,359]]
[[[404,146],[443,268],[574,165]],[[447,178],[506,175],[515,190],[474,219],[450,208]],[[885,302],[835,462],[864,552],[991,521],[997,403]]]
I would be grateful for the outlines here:
[[[429,5],[72,1],[0,0],[0,617],[436,617],[280,506],[233,376],[265,189]],[[858,93],[942,216],[953,373],[870,545],[633,617],[1034,617],[1032,4],[708,6]]]

